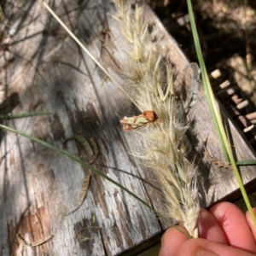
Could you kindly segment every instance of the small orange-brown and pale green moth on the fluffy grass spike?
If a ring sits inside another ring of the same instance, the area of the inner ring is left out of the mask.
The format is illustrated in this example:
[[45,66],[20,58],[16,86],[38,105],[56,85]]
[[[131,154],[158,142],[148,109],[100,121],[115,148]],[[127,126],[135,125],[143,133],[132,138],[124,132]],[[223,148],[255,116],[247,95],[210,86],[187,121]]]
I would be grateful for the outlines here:
[[142,114],[133,117],[124,117],[120,120],[123,125],[124,131],[132,131],[137,128],[141,128],[148,123],[153,123],[158,119],[156,113],[153,110],[145,110]]

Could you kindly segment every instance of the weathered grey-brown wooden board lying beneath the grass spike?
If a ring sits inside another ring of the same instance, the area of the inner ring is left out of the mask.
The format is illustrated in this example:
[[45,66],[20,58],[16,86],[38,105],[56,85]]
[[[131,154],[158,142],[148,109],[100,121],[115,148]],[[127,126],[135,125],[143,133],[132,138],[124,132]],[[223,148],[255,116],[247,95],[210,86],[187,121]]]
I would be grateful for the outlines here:
[[[75,3],[60,1],[55,2],[55,6],[61,19],[73,26],[90,52],[122,84],[120,69],[125,65],[125,42],[119,35],[117,23],[106,15],[108,10],[114,11],[113,4],[89,1],[81,13],[82,7]],[[87,141],[93,137],[100,152],[93,165],[161,210],[163,201],[154,177],[147,166],[127,153],[143,147],[143,139],[132,132],[124,133],[119,125],[119,119],[137,113],[137,109],[110,80],[102,86],[105,75],[49,18],[40,2],[27,2],[23,8],[24,13],[11,24],[13,38],[4,41],[19,43],[9,44],[9,51],[5,51],[1,59],[2,98],[18,96],[18,100],[11,101],[18,102],[12,106],[13,113],[44,110],[52,114],[5,124],[89,162],[96,156],[89,155],[78,142],[63,141],[75,134]],[[30,15],[26,15],[26,10]],[[158,27],[163,45],[170,49],[170,58],[177,66],[177,84],[185,79],[189,86],[189,71],[184,73],[188,61],[150,9],[146,9],[145,16]],[[18,27],[16,31],[15,27]],[[21,38],[26,40],[19,41]],[[4,68],[6,60],[9,66]],[[209,153],[223,161],[202,90],[189,114],[190,119],[195,119],[198,134],[190,138],[195,149],[208,137]],[[236,147],[238,159],[245,153],[253,158],[253,152],[231,124],[230,131],[234,144],[239,145]],[[198,159],[203,159],[202,153],[197,154]],[[229,170],[218,170],[215,166],[211,169],[206,160],[199,164],[205,176],[208,170],[217,173],[217,182],[205,196],[205,205],[211,200],[213,189],[214,200],[237,189]],[[82,207],[67,217],[61,216],[78,206],[84,175],[90,171],[9,132],[1,143],[0,170],[3,255],[10,252],[13,255],[59,255],[60,252],[61,255],[117,255],[127,250],[132,255],[139,250],[135,248],[138,244],[144,242],[145,246],[148,240],[154,243],[162,226],[166,227],[141,203],[96,175],[91,177]],[[245,183],[255,177],[253,171],[253,167],[241,168]],[[87,229],[76,236],[83,228]],[[54,237],[39,247],[24,247],[16,240],[17,233],[30,243],[51,234]]]

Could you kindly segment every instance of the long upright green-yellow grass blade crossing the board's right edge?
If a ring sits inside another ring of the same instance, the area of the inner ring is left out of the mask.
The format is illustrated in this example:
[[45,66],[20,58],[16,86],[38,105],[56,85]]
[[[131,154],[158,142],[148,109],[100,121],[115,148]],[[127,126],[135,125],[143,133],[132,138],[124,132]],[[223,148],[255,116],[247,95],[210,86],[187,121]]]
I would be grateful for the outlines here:
[[[213,95],[213,92],[212,92],[212,87],[210,85],[210,81],[209,81],[209,78],[207,76],[207,69],[206,69],[205,63],[203,61],[202,54],[201,54],[201,46],[200,46],[199,38],[198,38],[198,35],[197,35],[197,31],[196,31],[195,19],[194,19],[194,15],[193,15],[193,9],[192,9],[192,5],[191,5],[191,1],[187,0],[187,4],[188,4],[188,9],[189,9],[190,24],[191,24],[193,38],[194,38],[194,42],[195,42],[196,54],[198,56],[200,67],[201,67],[201,72],[202,72],[202,82],[203,82],[204,89],[206,90],[207,100],[209,102],[209,106],[210,106],[210,109],[211,109],[211,112],[212,112],[212,117],[213,117],[213,120],[214,120],[214,124],[217,127],[218,136],[220,138],[220,142],[222,143],[223,151],[227,152],[228,158],[230,159],[230,163],[231,163],[232,168],[234,170],[237,183],[239,184],[239,187],[241,189],[241,195],[242,195],[242,197],[243,197],[243,199],[246,203],[247,209],[248,209],[248,211],[250,213],[250,216],[253,220],[253,224],[254,224],[254,226],[256,226],[256,218],[253,214],[253,209],[252,209],[251,203],[250,203],[250,201],[247,197],[246,190],[245,190],[244,185],[241,181],[241,176],[240,176],[240,173],[237,169],[236,161],[234,159],[234,155],[233,155],[232,150],[230,148],[230,143],[228,142],[228,138],[225,134],[224,125],[222,124],[221,117],[220,117],[220,114],[218,112],[218,107],[215,103],[214,95]],[[205,75],[203,75],[203,74],[205,74]],[[225,159],[226,159],[226,157],[227,156],[225,155]]]

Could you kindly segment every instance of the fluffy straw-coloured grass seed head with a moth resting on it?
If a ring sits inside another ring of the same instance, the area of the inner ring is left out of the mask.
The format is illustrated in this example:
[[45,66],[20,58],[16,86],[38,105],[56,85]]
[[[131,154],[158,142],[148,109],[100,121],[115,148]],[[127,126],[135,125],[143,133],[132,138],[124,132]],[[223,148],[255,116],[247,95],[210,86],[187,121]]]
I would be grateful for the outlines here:
[[[137,131],[145,138],[146,147],[133,153],[154,171],[165,195],[166,215],[183,223],[189,235],[197,237],[198,200],[197,169],[186,159],[185,108],[174,86],[175,68],[157,38],[154,25],[143,17],[143,5],[125,5],[115,0],[119,30],[127,41],[126,69],[123,70],[129,95],[142,114],[124,117],[125,131]],[[189,99],[188,99],[189,100]],[[147,113],[154,118],[148,119]]]

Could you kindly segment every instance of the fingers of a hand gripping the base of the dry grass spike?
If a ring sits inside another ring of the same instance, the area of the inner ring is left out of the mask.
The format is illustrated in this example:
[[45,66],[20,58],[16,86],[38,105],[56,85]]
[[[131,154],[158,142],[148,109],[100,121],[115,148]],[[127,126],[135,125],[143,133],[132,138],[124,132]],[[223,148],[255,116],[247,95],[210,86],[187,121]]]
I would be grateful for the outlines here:
[[[253,208],[256,215],[256,208]],[[185,234],[188,232],[183,228]],[[256,255],[256,228],[248,212],[229,202],[201,209],[199,236],[189,239],[174,227],[162,236],[159,256],[252,256]]]

